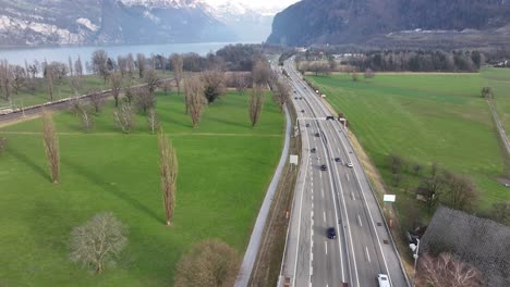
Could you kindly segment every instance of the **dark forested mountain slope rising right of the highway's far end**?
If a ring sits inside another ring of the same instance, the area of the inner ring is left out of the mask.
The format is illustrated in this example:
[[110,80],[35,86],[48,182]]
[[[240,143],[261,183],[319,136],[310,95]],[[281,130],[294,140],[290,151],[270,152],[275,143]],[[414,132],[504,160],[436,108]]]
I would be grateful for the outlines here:
[[501,37],[510,41],[509,24],[508,0],[302,0],[275,16],[267,41],[405,46],[440,39],[476,45]]

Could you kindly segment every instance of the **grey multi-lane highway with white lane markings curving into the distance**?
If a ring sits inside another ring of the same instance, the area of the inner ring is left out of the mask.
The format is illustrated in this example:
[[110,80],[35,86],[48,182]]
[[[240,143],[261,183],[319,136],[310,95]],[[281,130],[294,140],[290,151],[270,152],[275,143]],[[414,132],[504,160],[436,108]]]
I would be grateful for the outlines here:
[[279,286],[372,287],[378,274],[409,286],[347,132],[326,120],[331,112],[293,65],[289,60],[284,68],[303,148]]

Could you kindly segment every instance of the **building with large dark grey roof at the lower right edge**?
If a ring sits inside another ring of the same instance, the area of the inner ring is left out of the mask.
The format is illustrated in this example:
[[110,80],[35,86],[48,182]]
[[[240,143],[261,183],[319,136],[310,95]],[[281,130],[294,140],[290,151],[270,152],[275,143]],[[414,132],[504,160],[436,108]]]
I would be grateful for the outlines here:
[[477,267],[484,286],[510,286],[510,227],[439,207],[420,241],[420,253],[449,252]]

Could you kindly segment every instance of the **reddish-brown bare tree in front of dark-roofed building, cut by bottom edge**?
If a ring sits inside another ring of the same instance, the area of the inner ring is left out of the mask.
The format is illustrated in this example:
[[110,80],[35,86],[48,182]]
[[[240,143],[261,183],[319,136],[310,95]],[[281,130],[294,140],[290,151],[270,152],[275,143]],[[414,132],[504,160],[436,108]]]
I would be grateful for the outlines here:
[[437,258],[423,254],[418,261],[417,286],[421,287],[481,287],[482,274],[474,266],[456,260],[449,253]]

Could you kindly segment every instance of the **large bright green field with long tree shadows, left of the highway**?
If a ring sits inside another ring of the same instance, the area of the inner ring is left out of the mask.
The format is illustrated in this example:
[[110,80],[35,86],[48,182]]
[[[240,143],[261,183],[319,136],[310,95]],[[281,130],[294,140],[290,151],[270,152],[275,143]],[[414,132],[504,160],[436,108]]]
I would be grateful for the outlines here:
[[[82,133],[69,112],[60,133],[61,180],[50,184],[40,121],[0,129],[0,286],[172,286],[175,263],[197,241],[219,238],[242,254],[281,153],[283,116],[268,95],[250,128],[247,96],[228,93],[192,130],[182,96],[158,96],[158,113],[179,158],[174,225],[165,226],[157,137],[143,116],[131,135],[112,121],[112,102]],[[112,211],[129,226],[117,266],[101,275],[69,260],[69,235]]]

